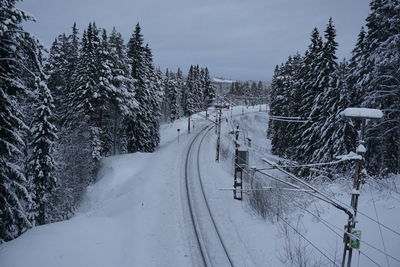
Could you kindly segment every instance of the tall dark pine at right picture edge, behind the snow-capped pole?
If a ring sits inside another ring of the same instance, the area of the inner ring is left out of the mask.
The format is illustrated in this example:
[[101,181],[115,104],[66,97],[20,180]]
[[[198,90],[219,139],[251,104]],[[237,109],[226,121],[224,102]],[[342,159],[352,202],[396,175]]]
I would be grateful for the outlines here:
[[400,171],[400,3],[374,0],[367,18],[364,105],[382,109],[384,118],[367,132],[367,163],[373,172]]

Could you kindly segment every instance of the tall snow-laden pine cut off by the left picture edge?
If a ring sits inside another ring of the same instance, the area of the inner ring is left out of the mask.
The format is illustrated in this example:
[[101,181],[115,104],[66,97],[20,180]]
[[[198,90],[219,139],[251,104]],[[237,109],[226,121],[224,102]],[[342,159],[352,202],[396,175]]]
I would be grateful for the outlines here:
[[36,76],[37,69],[29,68],[38,65],[38,45],[21,25],[32,18],[15,3],[0,1],[0,243],[31,227],[31,195],[19,163],[27,130],[20,105],[27,92],[24,74]]

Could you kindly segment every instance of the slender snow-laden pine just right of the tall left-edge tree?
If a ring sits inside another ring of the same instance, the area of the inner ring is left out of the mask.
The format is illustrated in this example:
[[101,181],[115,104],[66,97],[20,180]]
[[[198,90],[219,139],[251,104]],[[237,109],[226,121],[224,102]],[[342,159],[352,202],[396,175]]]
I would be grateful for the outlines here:
[[53,98],[44,77],[37,79],[36,87],[39,103],[33,123],[31,143],[32,155],[29,162],[29,175],[33,182],[35,222],[47,222],[46,206],[56,187],[55,162],[53,159],[56,127],[51,122]]

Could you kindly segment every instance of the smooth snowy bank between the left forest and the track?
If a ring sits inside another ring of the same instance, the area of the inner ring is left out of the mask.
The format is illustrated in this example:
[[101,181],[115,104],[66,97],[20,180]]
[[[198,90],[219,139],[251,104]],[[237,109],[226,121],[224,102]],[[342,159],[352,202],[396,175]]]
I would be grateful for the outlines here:
[[0,266],[189,266],[179,195],[184,126],[164,125],[156,153],[105,159],[80,212],[1,245]]

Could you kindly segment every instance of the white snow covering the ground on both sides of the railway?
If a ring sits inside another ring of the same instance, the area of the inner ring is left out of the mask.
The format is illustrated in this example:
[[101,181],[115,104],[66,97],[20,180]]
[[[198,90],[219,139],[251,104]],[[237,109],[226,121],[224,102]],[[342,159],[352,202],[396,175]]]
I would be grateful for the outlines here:
[[[265,106],[263,112],[258,110],[245,108],[241,116],[242,109],[236,108],[233,123],[243,129],[241,141],[243,133],[252,139],[250,164],[261,168],[267,167],[262,157],[279,158],[269,154]],[[224,113],[229,119],[230,112]],[[201,131],[210,125],[202,116],[194,116],[193,121],[191,134],[187,133],[187,119],[163,125],[161,145],[154,153],[105,159],[99,180],[88,188],[79,213],[68,221],[30,229],[0,245],[0,266],[294,266],[284,259],[290,245],[296,247],[299,240],[309,262],[340,266],[347,219],[342,211],[307,195],[297,197],[311,213],[293,208],[285,219],[319,251],[293,232],[288,246],[282,221],[263,220],[246,201],[233,200],[231,191],[220,190],[233,184],[233,143],[228,134],[232,124],[223,120],[221,161],[216,163],[214,130]],[[181,129],[179,143],[177,128]],[[276,170],[269,172],[279,175]],[[338,201],[350,203],[351,181],[315,184]],[[400,194],[395,192],[399,186],[395,180],[390,187],[388,183],[363,185],[359,211],[384,226],[380,229],[373,220],[358,216],[356,228],[362,230],[361,239],[374,248],[361,242],[362,254],[354,251],[352,266],[400,266]]]

